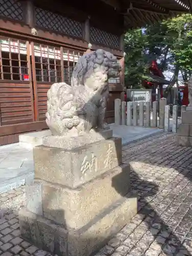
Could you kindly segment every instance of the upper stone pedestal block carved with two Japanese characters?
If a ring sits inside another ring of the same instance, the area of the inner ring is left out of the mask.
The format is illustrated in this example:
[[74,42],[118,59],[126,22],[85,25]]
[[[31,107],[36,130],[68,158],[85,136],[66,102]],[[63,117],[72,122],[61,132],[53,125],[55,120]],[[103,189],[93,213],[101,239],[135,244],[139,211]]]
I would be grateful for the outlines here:
[[33,155],[36,179],[78,187],[120,165],[122,143],[112,138],[69,150],[37,146]]

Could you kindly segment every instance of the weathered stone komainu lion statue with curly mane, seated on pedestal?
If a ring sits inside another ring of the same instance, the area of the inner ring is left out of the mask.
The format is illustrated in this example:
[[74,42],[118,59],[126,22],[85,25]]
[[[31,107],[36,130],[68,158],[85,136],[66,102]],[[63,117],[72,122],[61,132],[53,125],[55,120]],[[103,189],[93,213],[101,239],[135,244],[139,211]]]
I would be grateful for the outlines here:
[[104,123],[109,78],[119,76],[117,58],[103,50],[83,55],[74,68],[71,86],[54,83],[48,91],[46,122],[53,135],[78,136],[96,129],[109,129]]

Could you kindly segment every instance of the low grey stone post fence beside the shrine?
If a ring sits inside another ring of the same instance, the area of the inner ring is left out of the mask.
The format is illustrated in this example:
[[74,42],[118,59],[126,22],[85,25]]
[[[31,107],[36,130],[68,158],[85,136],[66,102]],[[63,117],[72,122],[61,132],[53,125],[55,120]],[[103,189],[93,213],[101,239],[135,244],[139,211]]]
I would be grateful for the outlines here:
[[[185,111],[186,106],[181,106]],[[172,122],[170,125],[170,121]],[[177,133],[178,129],[178,105],[173,106],[172,118],[170,118],[170,105],[166,98],[151,102],[124,102],[115,99],[115,124],[133,125],[163,129],[165,132]]]

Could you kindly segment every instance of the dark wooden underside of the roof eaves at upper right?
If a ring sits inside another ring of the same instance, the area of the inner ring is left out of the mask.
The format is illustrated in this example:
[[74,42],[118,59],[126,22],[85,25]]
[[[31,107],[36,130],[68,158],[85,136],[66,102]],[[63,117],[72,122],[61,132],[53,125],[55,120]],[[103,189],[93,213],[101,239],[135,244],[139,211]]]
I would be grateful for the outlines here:
[[144,27],[168,17],[189,13],[190,1],[192,3],[192,0],[102,0],[123,14],[125,29]]

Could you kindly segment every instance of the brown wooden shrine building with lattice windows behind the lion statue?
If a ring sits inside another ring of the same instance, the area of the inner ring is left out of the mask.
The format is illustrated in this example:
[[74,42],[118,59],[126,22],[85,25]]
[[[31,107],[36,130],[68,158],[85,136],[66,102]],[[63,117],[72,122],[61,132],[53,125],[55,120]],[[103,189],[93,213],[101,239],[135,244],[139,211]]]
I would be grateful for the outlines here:
[[[0,0],[0,145],[47,129],[47,91],[70,83],[78,58],[102,48],[124,65],[123,33],[188,12],[188,0]],[[124,72],[110,80],[106,120],[123,99]]]

